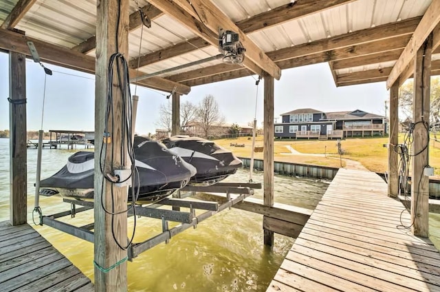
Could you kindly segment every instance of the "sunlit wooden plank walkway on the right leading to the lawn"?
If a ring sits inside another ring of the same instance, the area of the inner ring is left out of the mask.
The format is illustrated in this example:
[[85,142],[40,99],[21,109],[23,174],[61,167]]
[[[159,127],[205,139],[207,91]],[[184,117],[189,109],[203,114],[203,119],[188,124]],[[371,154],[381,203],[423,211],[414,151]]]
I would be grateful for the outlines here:
[[377,174],[340,169],[267,291],[440,291],[440,253],[402,210]]

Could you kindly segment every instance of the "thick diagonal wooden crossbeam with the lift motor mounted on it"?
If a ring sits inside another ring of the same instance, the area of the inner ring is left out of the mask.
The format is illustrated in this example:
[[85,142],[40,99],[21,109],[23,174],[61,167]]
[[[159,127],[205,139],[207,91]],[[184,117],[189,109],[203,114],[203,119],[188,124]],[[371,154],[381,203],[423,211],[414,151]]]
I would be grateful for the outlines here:
[[[150,2],[212,45],[217,46],[219,43],[219,28],[237,32],[241,43],[246,48],[243,65],[256,74],[262,74],[264,71],[280,79],[281,69],[211,1],[193,0],[189,8],[189,3],[183,0],[151,0]],[[195,10],[198,14],[197,18],[190,13],[191,11],[194,13]]]

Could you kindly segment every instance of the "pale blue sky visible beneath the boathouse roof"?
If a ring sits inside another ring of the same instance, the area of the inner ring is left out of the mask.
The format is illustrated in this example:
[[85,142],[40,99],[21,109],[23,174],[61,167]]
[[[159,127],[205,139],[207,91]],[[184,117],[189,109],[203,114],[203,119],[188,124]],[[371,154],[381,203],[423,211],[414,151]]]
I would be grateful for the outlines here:
[[[94,75],[48,64],[54,70],[47,76],[43,129],[94,130]],[[41,127],[44,71],[33,61],[27,62],[27,119],[28,130]],[[63,73],[61,73],[63,72]],[[72,76],[69,74],[79,75]],[[82,77],[80,77],[82,76]],[[256,78],[256,76],[254,76]],[[181,96],[181,102],[198,104],[212,94],[225,122],[246,125],[254,119],[256,85],[252,76],[192,87],[190,94]],[[8,54],[0,53],[0,129],[9,129],[9,73]],[[132,87],[132,93],[134,87]],[[138,103],[135,132],[154,133],[159,120],[158,109],[170,103],[166,92],[137,87]],[[281,80],[275,81],[275,117],[302,107],[323,112],[364,110],[385,114],[384,101],[388,92],[384,82],[348,87],[336,87],[327,63],[283,70]],[[259,85],[257,121],[263,121],[263,81]],[[278,118],[278,121],[281,121]]]

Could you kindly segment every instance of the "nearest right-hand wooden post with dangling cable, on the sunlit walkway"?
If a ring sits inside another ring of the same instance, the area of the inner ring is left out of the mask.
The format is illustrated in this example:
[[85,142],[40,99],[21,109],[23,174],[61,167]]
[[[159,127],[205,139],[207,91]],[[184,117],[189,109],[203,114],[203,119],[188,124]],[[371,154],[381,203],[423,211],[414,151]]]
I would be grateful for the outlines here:
[[423,174],[429,165],[429,114],[430,114],[430,72],[432,34],[417,50],[415,56],[414,95],[412,121],[414,142],[412,145],[411,183],[411,231],[415,236],[428,238],[429,220],[429,178]]

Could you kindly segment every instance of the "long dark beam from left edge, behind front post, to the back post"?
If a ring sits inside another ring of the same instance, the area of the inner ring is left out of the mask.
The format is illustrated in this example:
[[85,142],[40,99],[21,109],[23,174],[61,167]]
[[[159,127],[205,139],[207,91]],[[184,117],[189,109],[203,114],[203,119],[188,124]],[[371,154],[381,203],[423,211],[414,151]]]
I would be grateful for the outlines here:
[[[32,41],[34,43],[36,50],[39,52],[41,60],[47,63],[62,67],[69,67],[71,69],[90,74],[95,73],[95,58],[93,56],[87,56],[79,52],[74,52],[68,48],[53,45],[52,43],[46,43],[38,39],[32,39],[17,32],[0,29],[0,48],[3,50],[19,52],[21,54],[30,56],[31,54],[26,41]],[[136,76],[137,72],[133,69],[130,69],[129,74],[130,76]],[[143,75],[144,74],[140,74],[139,76]],[[157,76],[138,81],[137,83],[142,86],[151,87],[157,90],[164,90],[166,92],[172,92],[174,89],[175,92],[180,94],[188,94],[190,92],[190,87],[186,85],[175,83]]]

